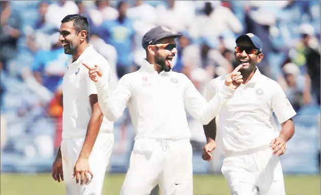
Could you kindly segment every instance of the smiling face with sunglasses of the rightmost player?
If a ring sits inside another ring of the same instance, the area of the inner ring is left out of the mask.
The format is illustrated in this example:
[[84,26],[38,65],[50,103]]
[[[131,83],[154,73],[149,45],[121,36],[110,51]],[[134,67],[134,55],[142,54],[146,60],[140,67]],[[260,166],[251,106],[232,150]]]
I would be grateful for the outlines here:
[[240,71],[251,72],[263,59],[263,53],[256,50],[250,41],[240,41],[235,49],[236,65],[242,64]]

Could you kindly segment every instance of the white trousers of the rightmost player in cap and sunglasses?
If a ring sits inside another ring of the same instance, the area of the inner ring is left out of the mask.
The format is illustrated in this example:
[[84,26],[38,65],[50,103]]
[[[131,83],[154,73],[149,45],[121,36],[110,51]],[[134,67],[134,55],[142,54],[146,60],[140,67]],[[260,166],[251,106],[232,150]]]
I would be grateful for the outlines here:
[[231,195],[285,195],[279,157],[269,146],[247,152],[226,152],[222,173]]

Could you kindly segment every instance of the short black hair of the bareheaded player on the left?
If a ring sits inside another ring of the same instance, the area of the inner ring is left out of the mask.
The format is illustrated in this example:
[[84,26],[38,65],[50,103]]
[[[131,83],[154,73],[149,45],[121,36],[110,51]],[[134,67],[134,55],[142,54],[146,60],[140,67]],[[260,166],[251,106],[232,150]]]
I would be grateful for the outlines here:
[[76,34],[78,34],[82,30],[87,31],[86,41],[89,42],[90,31],[89,31],[88,19],[84,16],[79,15],[79,14],[72,14],[72,15],[68,15],[65,18],[63,18],[61,20],[61,23],[66,23],[66,22],[70,22],[70,21],[74,21],[74,27],[76,30]]

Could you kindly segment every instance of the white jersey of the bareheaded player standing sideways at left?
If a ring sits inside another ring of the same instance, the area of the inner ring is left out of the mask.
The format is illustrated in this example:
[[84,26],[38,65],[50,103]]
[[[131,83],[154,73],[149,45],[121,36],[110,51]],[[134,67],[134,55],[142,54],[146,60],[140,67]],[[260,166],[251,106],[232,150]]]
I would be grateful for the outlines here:
[[[97,64],[103,69],[110,69],[107,60],[92,46],[89,46],[75,62],[69,64],[62,81],[62,139],[85,137],[91,118],[89,96],[97,94],[97,88],[89,77],[88,69],[82,63],[89,66]],[[113,122],[104,117],[99,133],[110,133],[112,129]]]

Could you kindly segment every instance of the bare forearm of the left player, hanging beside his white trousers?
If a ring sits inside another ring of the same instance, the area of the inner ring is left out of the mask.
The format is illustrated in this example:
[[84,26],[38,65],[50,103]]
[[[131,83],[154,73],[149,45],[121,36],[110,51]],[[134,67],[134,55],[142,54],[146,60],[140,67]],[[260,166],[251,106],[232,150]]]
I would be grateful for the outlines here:
[[79,154],[79,158],[89,158],[91,151],[96,142],[100,126],[103,120],[103,115],[93,115],[89,121],[83,148]]

